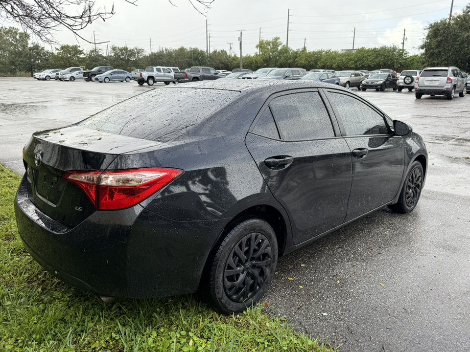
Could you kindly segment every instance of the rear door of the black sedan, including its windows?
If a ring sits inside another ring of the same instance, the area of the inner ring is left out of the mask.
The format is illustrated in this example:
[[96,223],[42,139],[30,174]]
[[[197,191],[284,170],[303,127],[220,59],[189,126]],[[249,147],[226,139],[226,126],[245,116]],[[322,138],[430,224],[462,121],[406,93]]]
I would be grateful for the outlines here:
[[298,244],[340,225],[351,191],[351,151],[318,90],[279,93],[246,136],[267,187]]

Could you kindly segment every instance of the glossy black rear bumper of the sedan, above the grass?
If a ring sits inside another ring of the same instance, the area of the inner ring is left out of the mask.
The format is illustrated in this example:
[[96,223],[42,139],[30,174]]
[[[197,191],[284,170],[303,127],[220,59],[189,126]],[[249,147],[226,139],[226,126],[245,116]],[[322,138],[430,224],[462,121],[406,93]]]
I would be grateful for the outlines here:
[[137,205],[95,211],[71,228],[25,197],[15,200],[18,231],[31,256],[53,276],[103,296],[153,298],[196,291],[227,219],[177,221]]

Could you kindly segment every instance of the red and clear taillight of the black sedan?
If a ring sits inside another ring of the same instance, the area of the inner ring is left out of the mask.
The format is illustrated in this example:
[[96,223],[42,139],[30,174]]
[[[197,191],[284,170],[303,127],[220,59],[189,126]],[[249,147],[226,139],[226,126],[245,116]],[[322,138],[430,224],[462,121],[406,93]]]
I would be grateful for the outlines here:
[[76,184],[98,210],[130,208],[160,191],[182,170],[151,168],[114,171],[74,171],[64,178]]

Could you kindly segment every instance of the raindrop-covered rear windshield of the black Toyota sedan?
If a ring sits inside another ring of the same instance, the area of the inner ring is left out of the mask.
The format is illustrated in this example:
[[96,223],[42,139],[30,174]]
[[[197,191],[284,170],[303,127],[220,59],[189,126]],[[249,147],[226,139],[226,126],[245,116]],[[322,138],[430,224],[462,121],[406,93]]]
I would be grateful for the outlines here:
[[125,100],[77,125],[157,142],[170,142],[236,99],[239,92],[218,89],[155,89]]

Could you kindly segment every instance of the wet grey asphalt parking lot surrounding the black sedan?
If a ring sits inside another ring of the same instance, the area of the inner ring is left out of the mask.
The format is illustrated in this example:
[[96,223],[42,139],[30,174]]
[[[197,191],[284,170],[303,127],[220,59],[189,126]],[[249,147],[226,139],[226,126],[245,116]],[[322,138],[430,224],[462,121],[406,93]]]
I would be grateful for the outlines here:
[[[23,173],[32,132],[160,87],[0,78],[0,162]],[[357,93],[423,136],[420,203],[408,215],[377,211],[282,258],[265,298],[297,330],[343,351],[469,351],[470,97]]]

